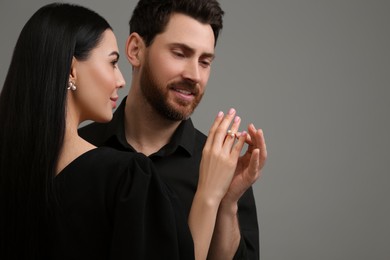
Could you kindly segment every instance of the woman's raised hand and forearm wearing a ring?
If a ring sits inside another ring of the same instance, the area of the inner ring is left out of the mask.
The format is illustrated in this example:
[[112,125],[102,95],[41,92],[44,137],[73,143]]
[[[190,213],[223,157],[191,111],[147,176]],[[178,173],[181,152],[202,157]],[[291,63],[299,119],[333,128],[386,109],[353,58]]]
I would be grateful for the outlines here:
[[188,217],[196,260],[204,260],[207,257],[219,204],[231,184],[245,143],[245,133],[238,141],[234,134],[227,135],[232,121],[232,132],[236,132],[240,126],[241,119],[235,115],[234,109],[230,109],[225,117],[222,112],[218,113],[203,149],[198,189]]

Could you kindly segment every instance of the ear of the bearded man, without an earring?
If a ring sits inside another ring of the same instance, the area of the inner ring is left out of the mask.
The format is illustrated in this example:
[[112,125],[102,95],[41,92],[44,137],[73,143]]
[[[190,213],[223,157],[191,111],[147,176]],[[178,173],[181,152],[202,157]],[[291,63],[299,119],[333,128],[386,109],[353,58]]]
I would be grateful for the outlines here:
[[144,40],[138,33],[129,35],[126,41],[126,56],[133,68],[142,64],[145,48]]

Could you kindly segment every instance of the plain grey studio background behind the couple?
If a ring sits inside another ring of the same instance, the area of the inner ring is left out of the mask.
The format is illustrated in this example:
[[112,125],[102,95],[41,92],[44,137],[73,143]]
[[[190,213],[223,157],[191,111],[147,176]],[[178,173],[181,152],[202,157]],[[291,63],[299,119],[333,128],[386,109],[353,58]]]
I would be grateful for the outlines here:
[[[1,0],[1,86],[23,24],[49,2]],[[123,53],[135,0],[73,2],[108,19]],[[225,27],[193,119],[207,133],[235,107],[264,129],[261,258],[390,259],[390,1],[220,2]],[[123,56],[120,67],[129,84]]]

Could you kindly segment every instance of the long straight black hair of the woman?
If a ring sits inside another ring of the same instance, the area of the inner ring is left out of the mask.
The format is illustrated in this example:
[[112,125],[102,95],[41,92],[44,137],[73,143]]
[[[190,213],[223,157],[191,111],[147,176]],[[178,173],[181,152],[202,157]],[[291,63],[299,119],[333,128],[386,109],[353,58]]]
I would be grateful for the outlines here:
[[87,59],[107,29],[87,8],[54,3],[20,33],[0,95],[0,259],[44,254],[72,58]]

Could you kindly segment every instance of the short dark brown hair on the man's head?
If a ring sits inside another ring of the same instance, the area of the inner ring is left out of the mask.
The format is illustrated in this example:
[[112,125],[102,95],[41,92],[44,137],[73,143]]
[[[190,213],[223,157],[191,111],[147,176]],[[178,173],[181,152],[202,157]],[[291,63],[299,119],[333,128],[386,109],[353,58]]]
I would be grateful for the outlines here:
[[148,47],[157,34],[164,32],[173,13],[210,24],[217,44],[224,15],[217,0],[140,0],[129,22],[130,34],[138,33]]

